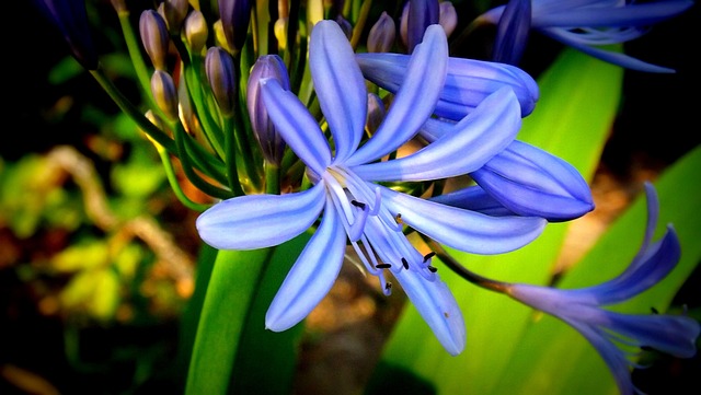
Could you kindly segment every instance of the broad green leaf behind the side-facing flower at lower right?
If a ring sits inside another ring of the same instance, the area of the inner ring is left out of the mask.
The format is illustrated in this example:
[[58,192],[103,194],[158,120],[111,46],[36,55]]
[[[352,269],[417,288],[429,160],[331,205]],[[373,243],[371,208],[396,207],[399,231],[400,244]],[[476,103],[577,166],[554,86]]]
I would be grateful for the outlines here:
[[[681,243],[681,259],[667,278],[639,297],[612,306],[625,313],[650,313],[651,307],[667,311],[673,298],[701,259],[701,148],[691,151],[668,169],[655,183],[660,213],[655,240],[673,223]],[[597,284],[620,274],[631,262],[643,240],[646,221],[644,194],[607,230],[591,251],[562,281],[562,288]],[[538,316],[525,333],[508,374],[496,394],[617,394],[613,379],[594,348],[566,324]],[[597,377],[591,380],[590,377]],[[515,391],[518,388],[518,391]],[[642,388],[644,390],[644,388]]]

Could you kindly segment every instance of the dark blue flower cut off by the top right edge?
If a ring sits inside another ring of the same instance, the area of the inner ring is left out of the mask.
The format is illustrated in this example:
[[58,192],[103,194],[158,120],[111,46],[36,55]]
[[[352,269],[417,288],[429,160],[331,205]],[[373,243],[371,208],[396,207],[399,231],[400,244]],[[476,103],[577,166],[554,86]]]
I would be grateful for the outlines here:
[[[625,43],[650,31],[650,26],[687,11],[693,1],[662,0],[634,2],[620,0],[510,0],[478,18],[479,22],[498,24],[496,59],[516,63],[525,40],[509,38],[530,24],[541,34],[576,48],[589,56],[624,68],[646,72],[674,72],[624,54],[598,46]],[[530,18],[530,21],[528,19]],[[522,36],[521,36],[522,37]],[[505,43],[510,43],[513,56]]]

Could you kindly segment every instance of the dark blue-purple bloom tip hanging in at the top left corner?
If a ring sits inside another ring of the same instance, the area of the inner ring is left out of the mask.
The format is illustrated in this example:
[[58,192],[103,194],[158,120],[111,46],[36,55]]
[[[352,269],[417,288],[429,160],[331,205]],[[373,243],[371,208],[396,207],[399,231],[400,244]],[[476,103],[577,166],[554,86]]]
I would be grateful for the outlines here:
[[88,70],[96,70],[97,53],[92,42],[83,0],[32,0],[44,16],[64,35],[73,58]]

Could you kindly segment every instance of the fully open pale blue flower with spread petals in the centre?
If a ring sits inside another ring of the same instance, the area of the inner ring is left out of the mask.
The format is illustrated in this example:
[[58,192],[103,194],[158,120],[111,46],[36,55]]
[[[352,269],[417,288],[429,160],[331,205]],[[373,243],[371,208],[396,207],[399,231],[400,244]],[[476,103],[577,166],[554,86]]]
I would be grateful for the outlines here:
[[[430,117],[443,90],[448,45],[432,25],[414,49],[405,80],[377,131],[365,135],[367,90],[355,54],[332,21],[314,25],[310,68],[321,111],[333,137],[330,148],[319,121],[276,79],[261,81],[268,115],[288,147],[307,165],[313,186],[284,195],[248,195],[221,201],[197,219],[197,230],[220,249],[253,249],[284,243],[312,226],[312,239],[283,282],[266,314],[266,327],[285,330],[303,320],[335,281],[348,241],[386,293],[384,269],[400,282],[420,314],[451,355],[462,351],[462,314],[447,286],[409,242],[403,225],[445,245],[476,254],[519,248],[543,230],[540,218],[490,217],[414,197],[379,183],[423,182],[479,169],[520,128],[520,111],[508,88],[484,100],[463,125],[410,155],[380,160],[414,137]],[[487,138],[489,136],[489,138]],[[485,152],[473,142],[486,143]],[[480,151],[479,154],[471,154]]]

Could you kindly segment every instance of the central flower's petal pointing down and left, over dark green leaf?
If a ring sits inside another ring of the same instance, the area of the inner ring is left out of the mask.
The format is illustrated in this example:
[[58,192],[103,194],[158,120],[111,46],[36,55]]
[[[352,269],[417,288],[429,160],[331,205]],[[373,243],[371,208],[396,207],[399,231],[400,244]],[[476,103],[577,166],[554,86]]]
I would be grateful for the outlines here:
[[321,225],[309,241],[265,314],[265,327],[286,330],[301,322],[329,293],[343,265],[346,233],[327,199]]

